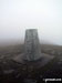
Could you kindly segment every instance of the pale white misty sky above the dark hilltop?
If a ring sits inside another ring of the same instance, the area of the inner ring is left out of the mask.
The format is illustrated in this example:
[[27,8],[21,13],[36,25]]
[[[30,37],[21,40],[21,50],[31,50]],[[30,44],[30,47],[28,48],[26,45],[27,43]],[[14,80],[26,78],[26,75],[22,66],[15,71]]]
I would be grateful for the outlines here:
[[0,42],[24,41],[25,29],[62,45],[62,0],[0,0]]

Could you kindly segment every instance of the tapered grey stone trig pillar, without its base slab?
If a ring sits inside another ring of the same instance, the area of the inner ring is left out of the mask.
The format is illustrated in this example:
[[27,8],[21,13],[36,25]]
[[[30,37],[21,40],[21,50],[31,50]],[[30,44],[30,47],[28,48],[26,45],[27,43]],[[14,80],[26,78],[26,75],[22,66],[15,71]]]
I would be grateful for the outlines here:
[[34,61],[40,59],[41,49],[37,29],[25,30],[24,53],[25,53],[24,60]]

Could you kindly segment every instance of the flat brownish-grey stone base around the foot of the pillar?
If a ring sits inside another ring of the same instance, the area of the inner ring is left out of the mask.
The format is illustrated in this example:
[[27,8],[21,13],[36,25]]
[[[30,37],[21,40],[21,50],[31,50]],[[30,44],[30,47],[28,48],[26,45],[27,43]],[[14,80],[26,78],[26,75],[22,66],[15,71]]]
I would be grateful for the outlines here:
[[[43,55],[43,56],[42,56]],[[45,53],[41,53],[41,58],[35,60],[35,61],[23,61],[22,60],[23,55],[22,54],[19,54],[18,56],[14,56],[12,60],[18,62],[18,63],[22,63],[22,64],[27,64],[27,65],[31,65],[31,66],[34,66],[34,68],[41,68],[41,66],[44,66],[45,64],[48,64],[52,59],[54,59],[53,55],[49,55],[49,54],[45,54]]]

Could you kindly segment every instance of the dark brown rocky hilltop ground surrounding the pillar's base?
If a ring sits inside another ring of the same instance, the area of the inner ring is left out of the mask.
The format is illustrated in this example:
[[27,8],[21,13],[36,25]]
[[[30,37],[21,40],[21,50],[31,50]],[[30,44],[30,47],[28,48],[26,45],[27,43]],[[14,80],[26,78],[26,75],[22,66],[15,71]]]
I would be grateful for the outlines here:
[[45,61],[20,63],[13,58],[23,53],[23,45],[0,48],[0,83],[41,83],[43,79],[62,77],[62,48],[41,45],[41,53],[53,59]]

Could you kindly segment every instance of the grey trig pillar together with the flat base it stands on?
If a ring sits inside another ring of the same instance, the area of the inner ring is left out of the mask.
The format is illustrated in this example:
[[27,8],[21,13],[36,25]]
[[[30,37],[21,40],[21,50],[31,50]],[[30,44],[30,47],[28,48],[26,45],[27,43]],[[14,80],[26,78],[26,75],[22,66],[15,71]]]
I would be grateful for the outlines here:
[[[32,66],[39,68],[48,64],[52,59],[53,56],[41,52],[38,30],[25,30],[24,51],[22,54],[14,56],[13,60],[19,63],[29,63]],[[33,62],[33,64],[31,62]]]

